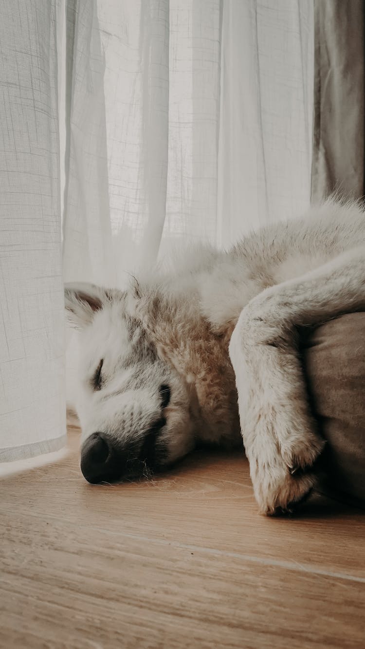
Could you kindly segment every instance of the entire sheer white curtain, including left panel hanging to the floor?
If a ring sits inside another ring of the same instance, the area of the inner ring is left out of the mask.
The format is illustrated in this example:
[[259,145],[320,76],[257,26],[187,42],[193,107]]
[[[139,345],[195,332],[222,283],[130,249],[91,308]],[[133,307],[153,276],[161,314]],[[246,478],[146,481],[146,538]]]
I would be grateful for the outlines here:
[[312,0],[3,0],[0,18],[12,459],[64,441],[61,212],[64,279],[124,286],[172,241],[226,247],[307,206],[313,21]]

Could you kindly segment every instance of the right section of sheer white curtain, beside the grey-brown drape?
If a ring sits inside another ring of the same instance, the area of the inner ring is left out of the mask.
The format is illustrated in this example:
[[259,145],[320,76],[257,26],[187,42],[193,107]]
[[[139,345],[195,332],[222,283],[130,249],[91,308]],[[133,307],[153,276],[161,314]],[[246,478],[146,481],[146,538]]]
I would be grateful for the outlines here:
[[313,5],[223,3],[218,243],[309,205]]

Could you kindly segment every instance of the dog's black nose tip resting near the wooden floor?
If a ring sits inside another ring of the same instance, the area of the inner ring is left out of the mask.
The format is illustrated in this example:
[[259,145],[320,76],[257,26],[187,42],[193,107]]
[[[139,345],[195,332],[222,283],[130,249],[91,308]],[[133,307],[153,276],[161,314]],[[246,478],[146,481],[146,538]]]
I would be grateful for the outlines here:
[[81,449],[81,471],[92,484],[113,482],[118,477],[119,461],[115,448],[101,433],[93,433]]

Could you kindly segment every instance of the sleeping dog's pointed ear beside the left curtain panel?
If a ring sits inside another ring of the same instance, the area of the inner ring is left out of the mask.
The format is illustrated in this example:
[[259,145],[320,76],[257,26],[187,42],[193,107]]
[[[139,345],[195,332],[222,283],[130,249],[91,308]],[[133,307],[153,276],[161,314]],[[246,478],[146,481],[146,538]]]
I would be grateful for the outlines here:
[[110,300],[110,291],[87,282],[65,284],[65,310],[72,326],[80,329],[93,320],[96,311],[100,311],[105,302]]

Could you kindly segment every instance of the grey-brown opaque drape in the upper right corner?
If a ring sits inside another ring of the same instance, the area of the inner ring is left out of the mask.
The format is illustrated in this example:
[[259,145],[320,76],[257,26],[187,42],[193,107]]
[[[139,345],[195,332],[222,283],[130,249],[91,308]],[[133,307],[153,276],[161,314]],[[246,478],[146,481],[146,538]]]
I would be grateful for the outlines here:
[[364,2],[314,0],[312,201],[364,195]]

